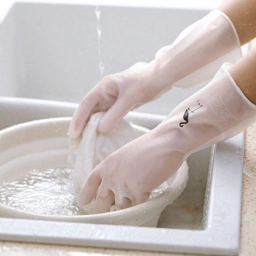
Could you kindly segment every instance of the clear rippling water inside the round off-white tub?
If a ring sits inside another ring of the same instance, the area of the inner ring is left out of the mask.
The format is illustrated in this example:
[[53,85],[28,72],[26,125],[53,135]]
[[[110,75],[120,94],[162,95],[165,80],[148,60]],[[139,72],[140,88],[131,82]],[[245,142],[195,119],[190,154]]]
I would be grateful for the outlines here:
[[0,186],[0,203],[34,214],[87,214],[76,204],[71,168],[32,170],[19,181]]

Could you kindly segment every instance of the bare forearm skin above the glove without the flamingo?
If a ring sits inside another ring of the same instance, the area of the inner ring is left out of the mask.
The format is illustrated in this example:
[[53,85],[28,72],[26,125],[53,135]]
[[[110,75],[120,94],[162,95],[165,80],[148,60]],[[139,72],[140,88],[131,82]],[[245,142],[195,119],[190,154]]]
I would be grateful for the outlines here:
[[233,22],[241,45],[256,37],[256,0],[225,0],[218,9]]

